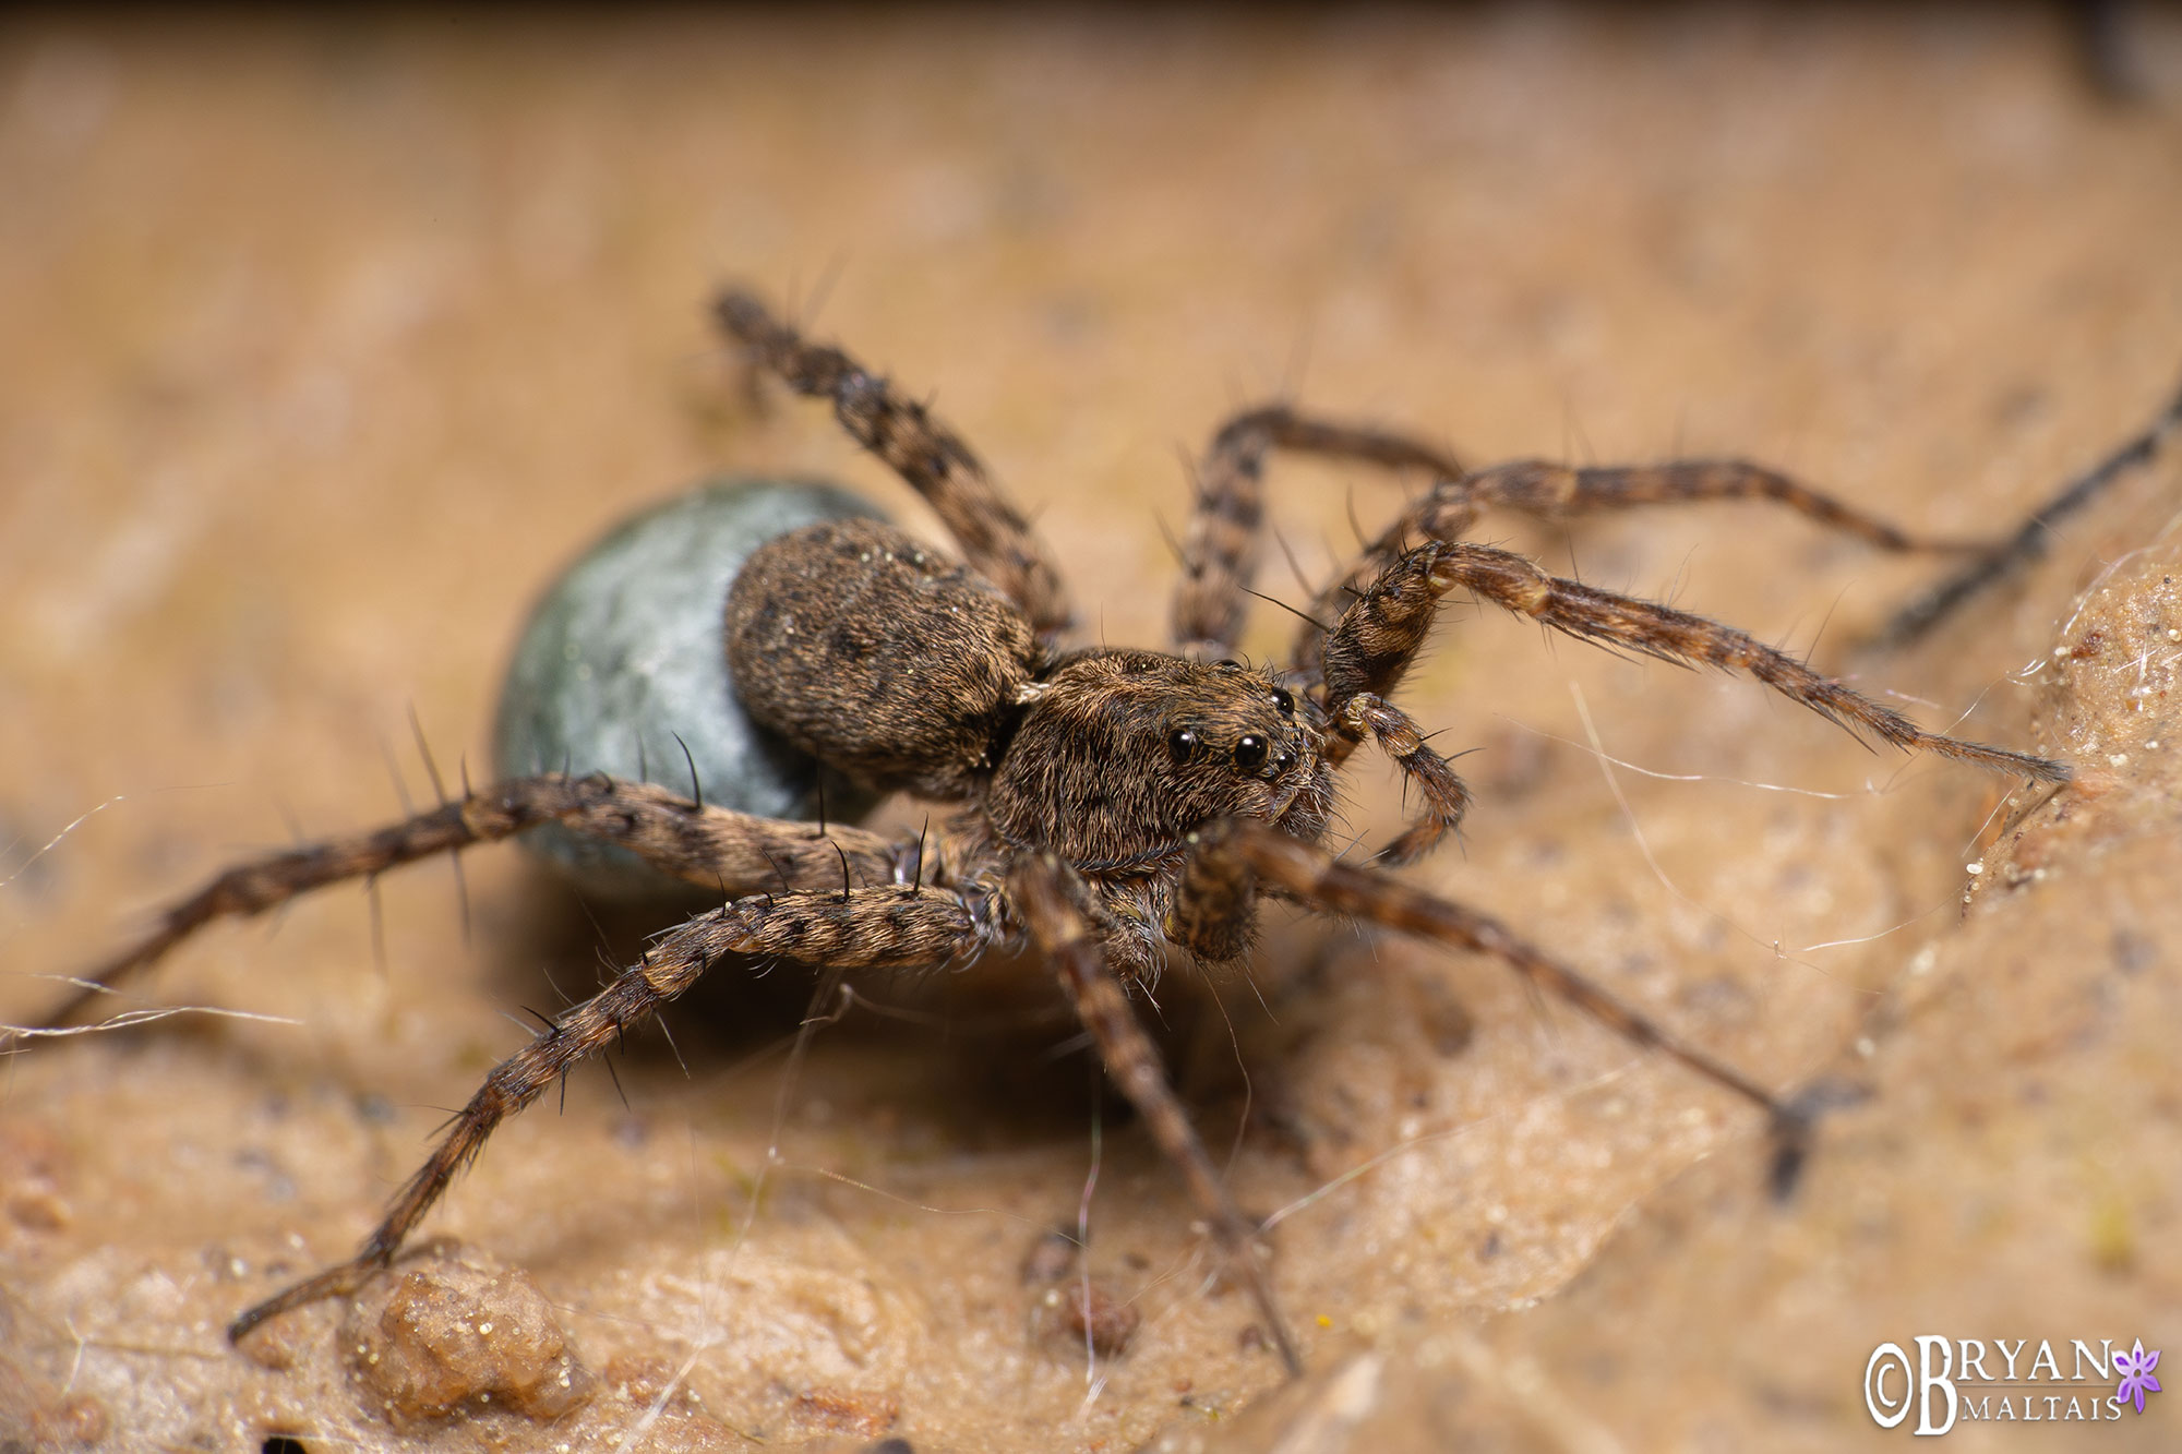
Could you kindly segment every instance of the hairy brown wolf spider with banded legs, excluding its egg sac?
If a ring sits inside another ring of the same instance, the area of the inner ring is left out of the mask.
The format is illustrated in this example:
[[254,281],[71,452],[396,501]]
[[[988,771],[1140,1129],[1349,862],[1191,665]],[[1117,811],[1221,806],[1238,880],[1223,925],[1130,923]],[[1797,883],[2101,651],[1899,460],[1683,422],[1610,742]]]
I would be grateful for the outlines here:
[[[633,849],[729,899],[659,937],[602,993],[552,1017],[493,1068],[362,1249],[242,1312],[229,1325],[236,1340],[271,1316],[353,1292],[386,1268],[504,1118],[727,954],[908,969],[1030,945],[1052,963],[1106,1072],[1187,1177],[1296,1371],[1300,1356],[1268,1271],[1250,1255],[1257,1227],[1222,1185],[1128,998],[1130,987],[1152,982],[1170,945],[1204,963],[1242,958],[1261,897],[1503,961],[1763,1111],[1774,1177],[1785,1183],[1807,1142],[1798,1103],[1488,915],[1388,871],[1442,843],[1468,803],[1447,760],[1390,703],[1453,589],[1610,648],[1748,672],[1850,731],[1903,749],[2053,784],[2071,775],[2062,762],[1925,731],[1733,627],[1558,579],[1521,555],[1462,539],[1490,506],[1562,517],[1759,498],[1885,550],[1927,548],[1741,461],[1466,469],[1403,434],[1255,408],[1213,434],[1198,472],[1174,651],[1065,646],[1060,576],[962,439],[746,293],[720,297],[716,321],[757,367],[829,400],[849,434],[932,504],[967,559],[956,563],[873,520],[814,524],[762,546],[727,600],[727,653],[742,701],[753,718],[849,777],[958,812],[930,843],[888,841],[862,827],[729,812],[644,782],[541,773],[465,790],[393,827],[240,865],[170,906],[157,930],[85,976],[59,1017],[212,919],[255,915],[323,884],[541,823]],[[1318,594],[1279,672],[1228,659],[1252,594],[1261,472],[1274,450],[1436,476],[1431,491]],[[1399,764],[1423,803],[1368,867],[1322,845],[1335,773],[1366,742]]]

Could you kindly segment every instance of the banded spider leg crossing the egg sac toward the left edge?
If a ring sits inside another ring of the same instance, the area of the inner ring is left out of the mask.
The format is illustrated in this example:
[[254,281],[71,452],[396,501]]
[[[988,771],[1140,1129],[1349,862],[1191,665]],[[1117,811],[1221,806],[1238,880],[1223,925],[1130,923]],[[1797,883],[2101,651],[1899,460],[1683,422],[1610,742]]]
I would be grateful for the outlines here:
[[[613,843],[698,889],[722,895],[759,889],[820,889],[842,880],[884,884],[897,878],[901,851],[862,827],[827,827],[705,808],[676,792],[613,777],[511,777],[449,799],[391,827],[327,838],[266,854],[216,875],[159,915],[159,926],[127,950],[76,976],[76,989],[46,1026],[74,1020],[83,1006],[129,976],[148,969],[214,919],[262,915],[312,889],[349,878],[497,843],[526,827],[561,823],[570,832]],[[930,878],[932,869],[914,869]]]

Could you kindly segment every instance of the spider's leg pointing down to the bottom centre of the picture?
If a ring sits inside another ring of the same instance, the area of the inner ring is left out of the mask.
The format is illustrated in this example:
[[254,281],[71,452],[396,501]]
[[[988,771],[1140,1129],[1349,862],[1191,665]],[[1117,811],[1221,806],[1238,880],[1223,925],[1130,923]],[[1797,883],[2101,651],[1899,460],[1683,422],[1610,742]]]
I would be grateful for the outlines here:
[[1076,1015],[1091,1039],[1098,1041],[1100,1061],[1115,1078],[1122,1094],[1130,1098],[1152,1140],[1174,1161],[1189,1181],[1189,1194],[1211,1223],[1213,1240],[1226,1253],[1231,1266],[1242,1268],[1242,1277],[1257,1301],[1259,1314],[1272,1334],[1281,1362],[1290,1373],[1303,1373],[1303,1356],[1287,1332],[1281,1306],[1272,1295],[1266,1266],[1257,1260],[1257,1225],[1242,1214],[1226,1183],[1220,1181],[1213,1159],[1204,1153],[1180,1098],[1167,1083],[1167,1072],[1159,1061],[1159,1048],[1137,1024],[1137,1013],[1128,1006],[1122,980],[1106,963],[1106,950],[1091,926],[1089,886],[1065,862],[1052,854],[1026,854],[1008,873],[1015,906],[1023,917],[1039,950],[1054,961],[1060,985],[1076,1004]]

